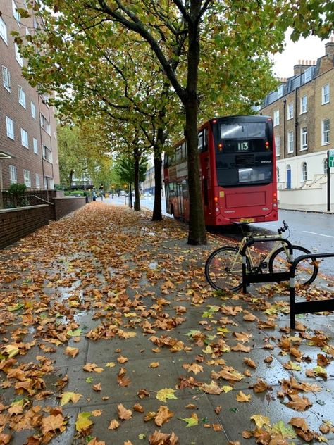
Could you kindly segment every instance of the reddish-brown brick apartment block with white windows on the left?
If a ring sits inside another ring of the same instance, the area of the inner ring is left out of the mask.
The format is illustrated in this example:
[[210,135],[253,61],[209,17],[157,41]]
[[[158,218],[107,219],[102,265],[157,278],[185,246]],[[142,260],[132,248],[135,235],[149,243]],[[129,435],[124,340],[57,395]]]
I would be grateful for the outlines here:
[[26,62],[11,36],[13,30],[33,33],[38,23],[21,18],[17,7],[23,2],[0,2],[0,189],[16,182],[53,189],[60,182],[54,111],[22,77]]

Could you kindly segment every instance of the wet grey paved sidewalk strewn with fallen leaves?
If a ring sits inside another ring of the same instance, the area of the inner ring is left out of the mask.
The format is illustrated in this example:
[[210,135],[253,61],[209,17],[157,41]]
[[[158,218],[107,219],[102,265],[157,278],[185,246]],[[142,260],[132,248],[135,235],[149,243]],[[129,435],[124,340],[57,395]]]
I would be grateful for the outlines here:
[[334,444],[333,313],[215,294],[221,239],[150,218],[89,203],[0,251],[0,444]]

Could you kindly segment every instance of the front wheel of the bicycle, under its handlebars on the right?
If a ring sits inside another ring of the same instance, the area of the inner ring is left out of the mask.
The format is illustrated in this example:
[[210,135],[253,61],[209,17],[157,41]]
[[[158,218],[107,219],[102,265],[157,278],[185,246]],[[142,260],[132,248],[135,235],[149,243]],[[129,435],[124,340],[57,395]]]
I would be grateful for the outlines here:
[[[292,246],[293,258],[297,258],[301,255],[308,255],[311,253],[308,249],[302,246]],[[289,272],[290,263],[287,260],[287,254],[289,249],[280,247],[277,249],[271,258],[269,259],[269,272]],[[318,266],[316,265],[316,258],[308,258],[306,260],[300,261],[295,270],[296,282],[302,284],[303,286],[311,284],[316,279],[318,275]]]

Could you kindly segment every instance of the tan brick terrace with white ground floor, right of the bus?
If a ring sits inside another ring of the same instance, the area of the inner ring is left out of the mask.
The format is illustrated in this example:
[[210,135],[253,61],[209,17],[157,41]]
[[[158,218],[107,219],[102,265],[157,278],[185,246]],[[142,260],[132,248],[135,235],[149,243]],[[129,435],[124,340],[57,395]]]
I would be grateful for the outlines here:
[[[259,110],[273,118],[280,201],[322,199],[327,151],[334,147],[334,39],[317,61],[299,61],[294,75],[268,94]],[[309,190],[309,194],[286,193]],[[318,195],[311,193],[318,189]],[[309,197],[307,197],[309,196]]]

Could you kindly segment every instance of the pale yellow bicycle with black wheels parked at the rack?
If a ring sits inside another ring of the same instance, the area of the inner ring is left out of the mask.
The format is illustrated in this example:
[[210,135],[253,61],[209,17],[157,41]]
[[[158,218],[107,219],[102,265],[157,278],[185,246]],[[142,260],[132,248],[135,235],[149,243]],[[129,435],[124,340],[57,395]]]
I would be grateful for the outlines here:
[[[242,229],[242,225],[240,225]],[[270,236],[276,239],[273,248],[268,253],[259,253],[259,263],[254,259],[254,250],[247,248],[246,251],[246,269],[252,273],[262,273],[264,269],[269,272],[288,272],[290,270],[289,249],[283,241],[282,234],[289,230],[289,226],[283,221],[283,226],[277,229],[278,234]],[[210,286],[216,290],[237,291],[242,287],[242,255],[243,246],[250,239],[263,239],[264,237],[251,236],[244,234],[242,230],[242,240],[237,245],[223,246],[212,252],[205,263],[205,277]],[[290,235],[290,230],[289,230]],[[289,236],[288,235],[288,236]],[[269,238],[269,237],[268,237]],[[303,246],[292,245],[293,258],[309,254],[311,251]],[[296,282],[306,286],[311,284],[318,275],[318,264],[315,258],[301,261],[296,270]]]

